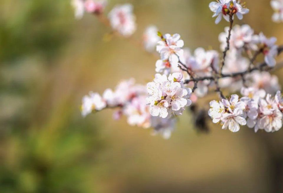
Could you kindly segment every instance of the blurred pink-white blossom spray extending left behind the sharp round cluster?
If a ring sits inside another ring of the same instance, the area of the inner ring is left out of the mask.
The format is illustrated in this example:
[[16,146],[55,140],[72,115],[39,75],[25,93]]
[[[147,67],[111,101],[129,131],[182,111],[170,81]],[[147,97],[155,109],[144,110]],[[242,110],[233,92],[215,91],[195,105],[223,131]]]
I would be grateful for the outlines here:
[[116,110],[113,113],[113,119],[118,120],[125,115],[129,125],[142,128],[153,127],[152,134],[160,133],[164,138],[169,138],[174,130],[175,119],[152,117],[147,105],[146,92],[146,87],[136,84],[134,79],[122,81],[114,91],[110,88],[106,89],[102,96],[90,92],[82,99],[82,116],[85,117],[104,108],[114,108]]

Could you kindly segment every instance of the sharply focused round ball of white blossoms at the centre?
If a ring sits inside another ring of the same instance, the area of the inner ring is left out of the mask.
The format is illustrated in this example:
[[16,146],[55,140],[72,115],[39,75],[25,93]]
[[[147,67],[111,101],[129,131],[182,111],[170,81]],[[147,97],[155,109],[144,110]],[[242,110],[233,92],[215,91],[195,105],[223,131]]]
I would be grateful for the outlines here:
[[167,118],[182,115],[186,106],[191,105],[192,89],[186,88],[181,73],[166,75],[156,74],[153,82],[147,84],[147,104],[150,114]]

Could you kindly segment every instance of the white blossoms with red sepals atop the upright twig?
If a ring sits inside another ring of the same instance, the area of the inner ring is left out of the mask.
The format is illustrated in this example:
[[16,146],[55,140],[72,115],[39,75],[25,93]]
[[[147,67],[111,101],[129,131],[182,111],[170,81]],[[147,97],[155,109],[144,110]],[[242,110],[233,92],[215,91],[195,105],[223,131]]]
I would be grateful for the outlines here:
[[249,9],[244,8],[240,0],[238,2],[236,0],[213,1],[209,4],[209,8],[214,13],[212,17],[217,17],[215,24],[218,24],[222,17],[229,22],[230,14],[236,14],[238,19],[243,19],[243,15],[249,13]]

